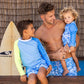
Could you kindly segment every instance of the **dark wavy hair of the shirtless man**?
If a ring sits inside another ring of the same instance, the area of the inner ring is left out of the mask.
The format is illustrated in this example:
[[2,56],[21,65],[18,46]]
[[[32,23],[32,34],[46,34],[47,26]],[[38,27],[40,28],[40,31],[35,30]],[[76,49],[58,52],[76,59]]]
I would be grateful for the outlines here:
[[42,2],[38,8],[39,14],[46,14],[54,9],[54,5],[48,2]]

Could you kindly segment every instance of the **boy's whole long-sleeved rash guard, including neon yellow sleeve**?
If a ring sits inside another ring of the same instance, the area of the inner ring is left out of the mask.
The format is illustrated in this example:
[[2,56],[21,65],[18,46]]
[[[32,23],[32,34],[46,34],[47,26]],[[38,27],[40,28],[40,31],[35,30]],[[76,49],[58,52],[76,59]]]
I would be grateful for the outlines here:
[[27,68],[35,67],[44,60],[47,66],[51,65],[50,59],[39,39],[33,37],[29,40],[17,40],[14,44],[14,56],[20,75],[24,75],[21,61],[23,66]]

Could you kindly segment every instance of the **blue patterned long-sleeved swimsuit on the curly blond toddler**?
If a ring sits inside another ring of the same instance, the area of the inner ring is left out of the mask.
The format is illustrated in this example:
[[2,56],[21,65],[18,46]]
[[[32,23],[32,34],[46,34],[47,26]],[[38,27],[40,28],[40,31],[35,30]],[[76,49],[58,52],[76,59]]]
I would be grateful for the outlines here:
[[64,46],[68,44],[69,47],[76,46],[76,33],[77,33],[77,26],[75,21],[70,24],[66,24],[65,31],[62,35],[62,41]]

